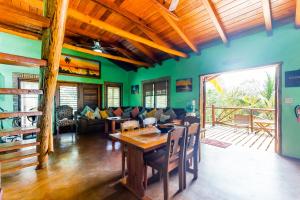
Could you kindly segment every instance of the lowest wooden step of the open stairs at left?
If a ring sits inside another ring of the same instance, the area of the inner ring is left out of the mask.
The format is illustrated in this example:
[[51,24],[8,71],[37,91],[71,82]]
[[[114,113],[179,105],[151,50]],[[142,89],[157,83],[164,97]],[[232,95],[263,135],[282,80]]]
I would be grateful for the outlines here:
[[39,163],[36,159],[20,160],[12,163],[5,163],[2,165],[1,174],[10,174],[19,171],[26,167],[37,166]]

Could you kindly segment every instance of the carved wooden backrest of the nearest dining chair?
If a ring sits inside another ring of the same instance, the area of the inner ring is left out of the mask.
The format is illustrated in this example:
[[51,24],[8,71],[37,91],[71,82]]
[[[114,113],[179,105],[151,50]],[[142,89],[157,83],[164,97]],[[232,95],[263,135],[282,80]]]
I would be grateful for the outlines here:
[[[166,165],[175,160],[183,160],[185,150],[186,128],[177,126],[168,132]],[[176,165],[176,163],[175,163]]]

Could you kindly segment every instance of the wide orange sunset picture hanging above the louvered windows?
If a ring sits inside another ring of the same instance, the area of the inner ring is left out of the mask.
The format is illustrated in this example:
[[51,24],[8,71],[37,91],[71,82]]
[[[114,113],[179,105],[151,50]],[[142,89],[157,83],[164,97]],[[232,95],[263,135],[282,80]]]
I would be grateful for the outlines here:
[[101,78],[101,63],[96,60],[62,54],[59,73],[87,78]]

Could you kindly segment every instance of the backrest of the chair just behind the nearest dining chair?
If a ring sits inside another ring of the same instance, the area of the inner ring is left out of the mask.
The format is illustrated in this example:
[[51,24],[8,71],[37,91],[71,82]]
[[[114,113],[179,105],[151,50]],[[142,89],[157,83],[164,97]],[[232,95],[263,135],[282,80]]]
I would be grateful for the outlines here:
[[200,124],[192,123],[187,127],[186,149],[194,149],[198,152],[200,139]]

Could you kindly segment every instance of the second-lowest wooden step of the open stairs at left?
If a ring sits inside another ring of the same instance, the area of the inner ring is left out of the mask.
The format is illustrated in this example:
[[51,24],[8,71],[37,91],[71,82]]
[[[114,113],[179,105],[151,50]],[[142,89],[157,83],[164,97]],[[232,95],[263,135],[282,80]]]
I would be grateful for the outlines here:
[[36,149],[29,149],[25,151],[17,151],[17,152],[12,152],[12,153],[7,153],[7,154],[2,154],[0,155],[0,163],[8,163],[8,162],[15,162],[19,161],[25,158],[31,158],[38,156],[39,153],[36,152]]

